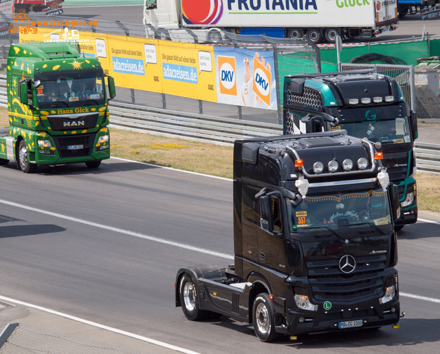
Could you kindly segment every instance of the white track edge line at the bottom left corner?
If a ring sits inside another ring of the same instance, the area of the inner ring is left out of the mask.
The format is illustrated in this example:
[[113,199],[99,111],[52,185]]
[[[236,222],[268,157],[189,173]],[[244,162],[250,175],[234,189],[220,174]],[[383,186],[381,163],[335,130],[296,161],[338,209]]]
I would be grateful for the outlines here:
[[99,324],[99,323],[96,323],[96,322],[91,322],[89,320],[84,320],[83,318],[80,318],[80,317],[75,317],[75,316],[72,316],[72,315],[67,315],[67,313],[62,313],[62,312],[54,311],[54,310],[51,310],[51,309],[46,309],[45,307],[41,307],[41,306],[37,306],[37,305],[34,305],[34,304],[30,304],[28,302],[23,302],[23,301],[20,301],[20,300],[6,298],[5,296],[1,296],[1,295],[0,295],[0,300],[6,301],[6,302],[12,302],[13,304],[19,304],[19,305],[22,305],[22,306],[31,307],[32,309],[36,309],[36,310],[40,310],[40,311],[45,311],[47,313],[52,313],[52,315],[57,315],[57,316],[65,317],[65,318],[68,318],[69,320],[74,320],[76,322],[80,322],[80,323],[83,323],[83,324],[89,324],[89,326],[94,326],[94,327],[97,327],[99,329],[105,329],[106,331],[111,331],[111,332],[118,333],[118,334],[121,334],[121,335],[126,335],[128,337],[132,337],[132,338],[135,338],[137,340],[142,340],[144,342],[155,344],[157,346],[163,346],[164,348],[168,348],[168,349],[170,349],[172,351],[179,351],[181,353],[188,353],[188,354],[197,354],[197,352],[195,352],[195,351],[190,351],[190,350],[185,349],[185,348],[180,348],[179,346],[174,346],[173,344],[159,342],[158,340],[153,340],[152,338],[144,337],[142,335],[137,335],[135,333],[121,331],[120,329],[114,329],[113,327],[105,326],[104,324]]

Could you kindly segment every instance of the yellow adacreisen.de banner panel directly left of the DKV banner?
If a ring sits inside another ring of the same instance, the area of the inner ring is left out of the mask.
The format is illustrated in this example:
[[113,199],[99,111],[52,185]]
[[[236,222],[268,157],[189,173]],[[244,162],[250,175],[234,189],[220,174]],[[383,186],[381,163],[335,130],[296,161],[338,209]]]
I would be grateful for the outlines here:
[[159,41],[164,93],[217,102],[210,45]]

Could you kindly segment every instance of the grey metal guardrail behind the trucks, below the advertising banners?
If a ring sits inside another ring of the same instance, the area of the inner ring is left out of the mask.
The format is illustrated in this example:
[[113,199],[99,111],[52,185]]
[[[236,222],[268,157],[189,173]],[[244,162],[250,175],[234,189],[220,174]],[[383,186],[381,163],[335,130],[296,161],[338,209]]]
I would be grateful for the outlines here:
[[[0,107],[8,107],[6,75],[0,74]],[[111,126],[144,133],[232,145],[235,139],[283,134],[282,125],[164,110],[111,101]],[[440,174],[440,144],[415,143],[417,169]]]

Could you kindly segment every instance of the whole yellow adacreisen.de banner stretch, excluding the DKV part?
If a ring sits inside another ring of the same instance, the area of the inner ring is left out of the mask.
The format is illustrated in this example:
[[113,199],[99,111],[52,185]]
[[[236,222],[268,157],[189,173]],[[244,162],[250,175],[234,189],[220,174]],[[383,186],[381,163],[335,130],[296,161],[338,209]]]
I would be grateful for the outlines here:
[[[25,31],[23,31],[25,32]],[[21,42],[78,41],[86,56],[98,57],[119,87],[217,102],[214,49],[210,45],[38,28]]]

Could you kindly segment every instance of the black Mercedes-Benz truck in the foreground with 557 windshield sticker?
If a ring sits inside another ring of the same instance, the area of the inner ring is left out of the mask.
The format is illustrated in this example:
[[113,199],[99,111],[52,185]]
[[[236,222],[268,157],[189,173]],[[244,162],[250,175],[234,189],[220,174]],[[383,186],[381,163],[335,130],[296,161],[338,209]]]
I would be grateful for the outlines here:
[[397,324],[399,192],[382,153],[344,130],[236,140],[234,266],[186,267],[176,306],[260,340]]

